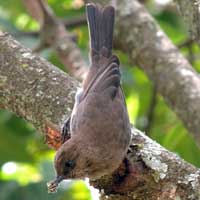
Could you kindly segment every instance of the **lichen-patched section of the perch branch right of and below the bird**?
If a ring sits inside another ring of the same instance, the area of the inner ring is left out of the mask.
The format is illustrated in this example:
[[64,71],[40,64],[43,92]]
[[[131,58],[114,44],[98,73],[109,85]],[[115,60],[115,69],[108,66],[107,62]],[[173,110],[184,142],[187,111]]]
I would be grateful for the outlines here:
[[131,166],[126,170],[127,176],[117,172],[94,183],[108,195],[102,195],[102,200],[200,198],[200,170],[136,129],[132,130],[132,137],[127,155]]

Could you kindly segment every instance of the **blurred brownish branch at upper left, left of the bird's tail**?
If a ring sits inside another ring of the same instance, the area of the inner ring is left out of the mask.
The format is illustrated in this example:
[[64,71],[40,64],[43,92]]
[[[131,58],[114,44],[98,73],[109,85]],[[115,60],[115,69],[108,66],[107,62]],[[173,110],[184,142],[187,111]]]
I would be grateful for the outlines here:
[[69,73],[82,79],[87,72],[87,64],[81,56],[80,49],[72,40],[71,34],[54,15],[47,2],[45,0],[25,0],[24,5],[41,26],[41,44],[37,49],[45,45],[51,46]]

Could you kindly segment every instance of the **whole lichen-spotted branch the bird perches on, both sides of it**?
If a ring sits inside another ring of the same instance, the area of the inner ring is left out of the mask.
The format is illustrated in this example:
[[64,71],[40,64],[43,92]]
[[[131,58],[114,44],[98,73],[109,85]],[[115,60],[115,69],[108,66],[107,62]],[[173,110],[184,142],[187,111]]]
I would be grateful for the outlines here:
[[[17,113],[43,133],[48,124],[60,128],[73,106],[78,83],[2,32],[0,63],[0,107]],[[93,182],[104,189],[101,199],[200,198],[199,169],[139,130],[132,129],[127,158],[124,169]]]

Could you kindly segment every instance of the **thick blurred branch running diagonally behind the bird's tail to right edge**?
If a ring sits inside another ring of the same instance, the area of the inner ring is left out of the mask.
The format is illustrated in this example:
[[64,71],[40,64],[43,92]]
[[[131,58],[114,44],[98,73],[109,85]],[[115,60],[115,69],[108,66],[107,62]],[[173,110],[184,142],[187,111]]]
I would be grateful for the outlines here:
[[[102,1],[95,1],[102,2]],[[116,9],[115,43],[137,63],[200,142],[200,77],[136,0],[104,0]]]

